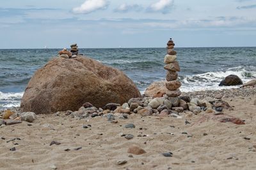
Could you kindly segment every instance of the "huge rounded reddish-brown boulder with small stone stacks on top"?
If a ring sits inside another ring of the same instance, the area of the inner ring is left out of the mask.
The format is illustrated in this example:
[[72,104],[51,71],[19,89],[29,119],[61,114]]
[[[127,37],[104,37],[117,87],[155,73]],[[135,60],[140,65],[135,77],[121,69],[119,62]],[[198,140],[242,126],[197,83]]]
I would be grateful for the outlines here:
[[141,97],[136,85],[122,71],[88,57],[54,57],[38,69],[22,97],[21,111],[54,113],[78,110],[84,103],[103,107]]

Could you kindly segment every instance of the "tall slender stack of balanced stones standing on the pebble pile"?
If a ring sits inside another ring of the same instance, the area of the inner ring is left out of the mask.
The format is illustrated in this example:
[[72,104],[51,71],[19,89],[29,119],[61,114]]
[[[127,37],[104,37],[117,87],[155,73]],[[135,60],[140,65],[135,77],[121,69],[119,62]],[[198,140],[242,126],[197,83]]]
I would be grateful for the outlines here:
[[166,92],[166,95],[168,97],[178,97],[180,96],[181,92],[179,90],[181,83],[178,78],[178,73],[177,71],[180,71],[180,66],[179,62],[176,60],[177,59],[177,52],[173,50],[175,46],[175,43],[173,43],[172,38],[167,43],[167,54],[164,57],[164,63],[166,64],[164,66],[164,69],[167,70],[166,74],[166,89],[168,91]]

